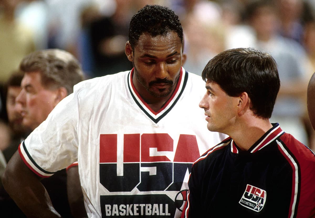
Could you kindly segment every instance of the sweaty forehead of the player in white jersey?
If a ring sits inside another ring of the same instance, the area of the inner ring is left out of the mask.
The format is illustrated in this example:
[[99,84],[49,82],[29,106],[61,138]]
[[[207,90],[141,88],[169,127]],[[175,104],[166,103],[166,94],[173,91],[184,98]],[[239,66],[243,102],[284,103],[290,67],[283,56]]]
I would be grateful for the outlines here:
[[169,32],[167,35],[150,36],[148,33],[143,33],[138,40],[135,50],[141,53],[147,51],[165,51],[166,53],[181,49],[182,43],[176,32]]

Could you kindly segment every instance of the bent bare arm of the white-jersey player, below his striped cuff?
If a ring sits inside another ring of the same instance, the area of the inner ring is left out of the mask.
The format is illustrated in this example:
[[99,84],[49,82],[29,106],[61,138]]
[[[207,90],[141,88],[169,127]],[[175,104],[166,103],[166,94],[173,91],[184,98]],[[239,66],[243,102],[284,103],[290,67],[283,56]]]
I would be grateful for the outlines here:
[[40,180],[25,165],[17,151],[10,159],[2,181],[5,190],[27,217],[61,217]]

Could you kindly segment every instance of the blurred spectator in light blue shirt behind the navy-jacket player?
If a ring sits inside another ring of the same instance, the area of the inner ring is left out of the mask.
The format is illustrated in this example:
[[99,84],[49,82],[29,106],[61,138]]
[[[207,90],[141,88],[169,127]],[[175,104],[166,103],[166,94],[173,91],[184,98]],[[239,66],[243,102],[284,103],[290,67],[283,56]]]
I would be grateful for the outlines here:
[[278,65],[281,87],[271,121],[280,123],[284,131],[309,145],[303,122],[308,82],[305,50],[296,41],[278,34],[281,22],[272,1],[255,1],[249,4],[247,12],[256,36],[251,47],[270,52]]

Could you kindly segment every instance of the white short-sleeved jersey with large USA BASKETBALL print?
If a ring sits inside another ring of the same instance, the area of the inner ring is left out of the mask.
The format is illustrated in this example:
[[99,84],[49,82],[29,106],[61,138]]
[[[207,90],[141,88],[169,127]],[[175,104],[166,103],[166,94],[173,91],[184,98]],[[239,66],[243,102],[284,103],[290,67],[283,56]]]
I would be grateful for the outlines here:
[[180,71],[154,112],[132,83],[133,70],[78,83],[20,145],[48,177],[78,161],[89,217],[180,217],[192,163],[225,135],[207,129],[200,76]]

